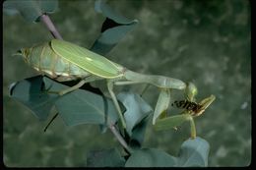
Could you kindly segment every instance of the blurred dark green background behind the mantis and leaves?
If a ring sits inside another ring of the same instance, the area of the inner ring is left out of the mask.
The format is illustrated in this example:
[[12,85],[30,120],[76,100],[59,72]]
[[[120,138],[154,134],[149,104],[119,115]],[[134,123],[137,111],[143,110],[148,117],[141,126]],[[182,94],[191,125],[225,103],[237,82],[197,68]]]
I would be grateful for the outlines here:
[[[90,48],[104,17],[94,0],[59,1],[50,17],[64,39]],[[248,0],[108,0],[138,26],[107,57],[127,68],[191,81],[198,99],[216,101],[197,118],[198,136],[211,145],[209,166],[247,166],[251,162],[251,6]],[[8,85],[37,75],[21,58],[21,47],[51,39],[42,24],[3,14],[3,161],[10,167],[85,166],[89,150],[119,145],[97,126],[66,127],[62,120],[43,133],[46,122],[8,96]],[[127,87],[126,87],[127,88]],[[117,89],[117,90],[121,90]],[[142,85],[132,85],[140,91]],[[144,98],[153,106],[158,90]],[[176,155],[189,137],[189,124],[178,131],[155,132],[149,125],[145,146]]]

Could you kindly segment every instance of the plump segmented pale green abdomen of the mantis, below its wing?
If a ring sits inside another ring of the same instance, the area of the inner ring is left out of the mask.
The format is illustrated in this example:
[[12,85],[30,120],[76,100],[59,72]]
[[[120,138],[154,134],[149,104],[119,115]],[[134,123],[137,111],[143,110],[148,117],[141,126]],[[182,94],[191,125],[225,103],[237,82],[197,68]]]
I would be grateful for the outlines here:
[[91,73],[56,54],[49,42],[22,50],[25,54],[25,61],[33,69],[59,82],[84,79],[91,75]]

